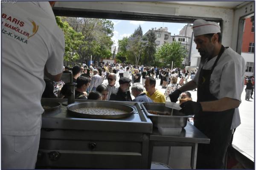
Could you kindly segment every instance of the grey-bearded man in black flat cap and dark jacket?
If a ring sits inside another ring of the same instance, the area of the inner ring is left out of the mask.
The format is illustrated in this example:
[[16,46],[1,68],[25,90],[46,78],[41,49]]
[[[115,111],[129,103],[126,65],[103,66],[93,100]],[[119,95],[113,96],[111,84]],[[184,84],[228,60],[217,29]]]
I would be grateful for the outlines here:
[[109,100],[131,102],[131,79],[127,77],[121,77],[119,79],[119,85],[120,87],[116,88],[116,90],[111,94]]

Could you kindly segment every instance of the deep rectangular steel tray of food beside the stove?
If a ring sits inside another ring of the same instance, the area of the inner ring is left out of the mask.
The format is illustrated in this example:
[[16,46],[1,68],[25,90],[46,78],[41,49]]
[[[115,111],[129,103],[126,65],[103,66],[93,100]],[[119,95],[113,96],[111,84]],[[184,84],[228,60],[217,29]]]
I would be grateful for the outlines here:
[[[185,116],[178,110],[168,108],[164,103],[143,102],[141,105],[145,108],[144,110],[146,111],[147,116],[151,119],[153,126],[158,128],[183,128],[186,127],[187,119],[192,117]],[[151,114],[149,113],[150,111],[160,113],[160,115]]]

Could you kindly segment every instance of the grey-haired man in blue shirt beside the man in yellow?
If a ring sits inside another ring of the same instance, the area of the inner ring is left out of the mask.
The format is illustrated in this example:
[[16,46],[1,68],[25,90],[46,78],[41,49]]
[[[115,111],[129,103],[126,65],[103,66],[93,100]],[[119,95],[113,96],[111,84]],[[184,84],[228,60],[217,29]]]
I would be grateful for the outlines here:
[[134,83],[131,86],[131,93],[135,97],[133,102],[153,102],[145,93],[143,93],[143,85]]

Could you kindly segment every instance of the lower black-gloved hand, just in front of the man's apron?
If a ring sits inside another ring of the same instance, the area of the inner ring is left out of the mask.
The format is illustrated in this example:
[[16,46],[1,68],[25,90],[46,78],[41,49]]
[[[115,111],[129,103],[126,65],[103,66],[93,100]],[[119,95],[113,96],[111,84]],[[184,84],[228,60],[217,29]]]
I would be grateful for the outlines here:
[[180,112],[184,113],[185,115],[192,115],[202,112],[201,104],[199,102],[193,102],[192,100],[182,103],[180,108]]

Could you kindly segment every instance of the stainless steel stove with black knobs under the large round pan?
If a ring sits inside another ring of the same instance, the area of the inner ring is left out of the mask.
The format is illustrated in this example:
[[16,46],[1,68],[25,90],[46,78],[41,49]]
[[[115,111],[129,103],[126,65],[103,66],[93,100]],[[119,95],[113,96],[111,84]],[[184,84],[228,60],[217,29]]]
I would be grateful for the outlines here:
[[62,106],[43,114],[36,168],[148,168],[152,122],[137,102],[119,103],[131,105],[135,113],[123,119],[84,119],[70,116]]

